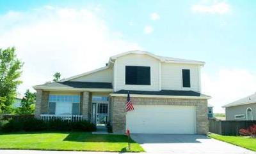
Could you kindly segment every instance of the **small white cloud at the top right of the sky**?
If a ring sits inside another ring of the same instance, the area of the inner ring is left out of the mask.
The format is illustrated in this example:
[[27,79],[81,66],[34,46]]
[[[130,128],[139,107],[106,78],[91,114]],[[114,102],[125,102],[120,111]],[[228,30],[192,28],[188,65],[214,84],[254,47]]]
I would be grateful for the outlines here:
[[191,7],[191,10],[196,13],[225,14],[230,12],[230,5],[225,2],[195,4]]

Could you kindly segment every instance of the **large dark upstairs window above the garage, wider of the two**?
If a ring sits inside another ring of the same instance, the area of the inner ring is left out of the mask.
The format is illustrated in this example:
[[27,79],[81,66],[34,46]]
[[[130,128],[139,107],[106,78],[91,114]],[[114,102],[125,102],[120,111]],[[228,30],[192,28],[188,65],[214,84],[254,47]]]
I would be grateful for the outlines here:
[[125,66],[126,85],[150,85],[150,67]]

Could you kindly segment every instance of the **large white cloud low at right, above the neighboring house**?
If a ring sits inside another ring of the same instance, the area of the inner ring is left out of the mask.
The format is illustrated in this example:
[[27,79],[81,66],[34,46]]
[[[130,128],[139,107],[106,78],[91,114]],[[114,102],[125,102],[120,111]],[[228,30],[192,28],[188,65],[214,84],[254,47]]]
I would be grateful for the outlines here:
[[256,92],[256,74],[239,69],[221,69],[214,76],[202,73],[202,93],[212,96],[209,103],[214,112],[225,111],[221,106]]

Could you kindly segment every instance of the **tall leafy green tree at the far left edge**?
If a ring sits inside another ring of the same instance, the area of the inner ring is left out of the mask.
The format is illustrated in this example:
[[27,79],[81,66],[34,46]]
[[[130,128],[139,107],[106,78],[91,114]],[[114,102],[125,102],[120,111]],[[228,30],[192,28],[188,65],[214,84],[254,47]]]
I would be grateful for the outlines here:
[[0,48],[0,113],[10,113],[15,100],[23,62],[17,59],[15,48]]

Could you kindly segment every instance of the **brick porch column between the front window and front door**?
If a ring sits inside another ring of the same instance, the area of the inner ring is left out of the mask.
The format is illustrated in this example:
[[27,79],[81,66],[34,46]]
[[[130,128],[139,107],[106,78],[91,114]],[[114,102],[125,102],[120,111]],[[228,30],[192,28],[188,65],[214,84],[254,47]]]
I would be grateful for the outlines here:
[[83,120],[88,120],[90,121],[89,119],[89,102],[90,102],[90,95],[89,95],[89,92],[82,92],[82,108],[81,108],[81,115],[83,115]]

